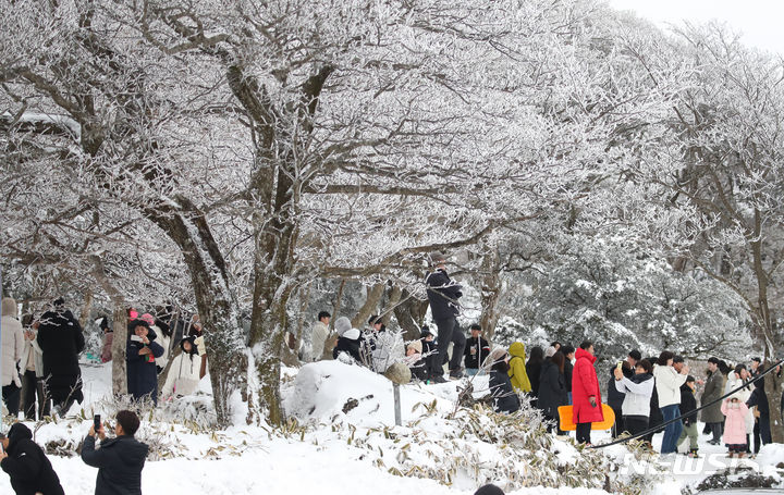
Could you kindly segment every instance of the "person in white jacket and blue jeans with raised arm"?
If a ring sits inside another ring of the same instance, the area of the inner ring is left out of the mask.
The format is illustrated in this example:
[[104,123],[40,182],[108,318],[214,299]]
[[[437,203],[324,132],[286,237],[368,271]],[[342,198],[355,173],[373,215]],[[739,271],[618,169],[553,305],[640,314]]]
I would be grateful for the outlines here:
[[[675,356],[669,350],[659,355],[657,366],[653,368],[657,393],[659,395],[659,409],[661,409],[664,422],[674,420],[681,416],[681,385],[686,383],[688,378],[688,366],[683,364],[681,373],[673,368]],[[683,422],[675,421],[664,426],[662,438],[662,454],[674,454],[677,450],[677,440],[683,430]]]

